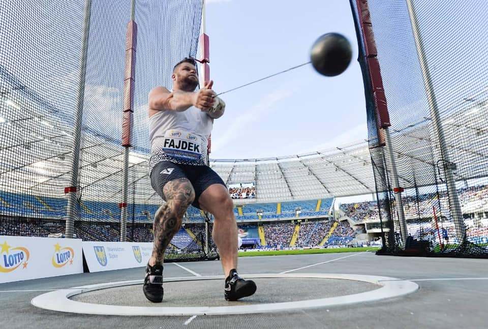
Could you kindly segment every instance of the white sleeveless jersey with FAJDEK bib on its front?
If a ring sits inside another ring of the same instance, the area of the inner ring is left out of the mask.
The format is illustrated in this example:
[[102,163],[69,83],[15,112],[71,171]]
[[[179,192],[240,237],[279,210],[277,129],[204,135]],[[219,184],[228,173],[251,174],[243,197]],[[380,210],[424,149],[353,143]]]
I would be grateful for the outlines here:
[[212,126],[211,117],[195,106],[182,112],[156,112],[149,118],[150,167],[161,161],[206,165]]

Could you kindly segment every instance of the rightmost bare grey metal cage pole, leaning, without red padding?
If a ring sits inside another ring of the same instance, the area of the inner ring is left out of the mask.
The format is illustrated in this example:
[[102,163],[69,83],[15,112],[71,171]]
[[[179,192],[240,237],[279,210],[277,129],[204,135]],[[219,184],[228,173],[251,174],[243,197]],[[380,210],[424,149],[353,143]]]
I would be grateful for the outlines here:
[[454,221],[454,227],[460,243],[463,243],[466,237],[466,229],[464,226],[463,214],[461,212],[461,204],[457,196],[455,180],[453,175],[452,163],[449,161],[449,153],[447,151],[446,139],[444,130],[442,128],[441,117],[439,115],[439,108],[437,106],[436,95],[434,93],[434,86],[432,84],[431,73],[426,61],[425,51],[423,47],[422,36],[418,24],[417,15],[412,0],[407,1],[408,15],[412,25],[412,34],[415,40],[415,48],[417,50],[418,61],[422,71],[423,83],[425,86],[425,93],[429,102],[429,109],[431,113],[432,123],[434,126],[435,135],[439,143],[441,152],[441,160],[443,161],[444,174],[446,178],[447,194],[449,200],[449,207],[451,216]]

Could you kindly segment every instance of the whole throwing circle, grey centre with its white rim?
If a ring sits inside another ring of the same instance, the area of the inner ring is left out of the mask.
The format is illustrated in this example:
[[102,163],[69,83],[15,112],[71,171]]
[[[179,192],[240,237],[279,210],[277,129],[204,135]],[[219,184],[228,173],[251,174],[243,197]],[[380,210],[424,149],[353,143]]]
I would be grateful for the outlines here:
[[142,294],[142,280],[56,290],[32,305],[60,312],[101,315],[217,315],[290,311],[372,302],[412,293],[418,285],[387,277],[351,274],[247,274],[258,290],[239,302],[225,302],[223,277],[165,279],[164,302]]

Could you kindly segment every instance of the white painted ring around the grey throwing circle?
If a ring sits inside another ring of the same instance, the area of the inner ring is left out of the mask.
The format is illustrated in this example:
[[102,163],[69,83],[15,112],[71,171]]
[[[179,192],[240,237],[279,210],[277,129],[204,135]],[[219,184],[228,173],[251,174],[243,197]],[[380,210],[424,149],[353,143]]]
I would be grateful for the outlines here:
[[[368,282],[379,285],[380,288],[336,297],[326,297],[315,300],[296,302],[282,302],[269,304],[241,305],[241,306],[216,306],[216,307],[144,307],[144,306],[118,306],[104,304],[90,304],[77,302],[70,297],[100,289],[124,287],[142,284],[142,280],[119,281],[100,283],[70,289],[60,289],[34,297],[31,304],[45,310],[69,312],[78,314],[119,315],[119,316],[192,316],[192,315],[225,315],[225,314],[249,314],[270,313],[291,310],[303,310],[323,308],[330,306],[365,303],[403,296],[418,289],[418,285],[412,281],[358,274],[318,274],[318,273],[288,273],[288,274],[246,274],[249,279],[272,278],[315,278],[315,279],[340,279]],[[223,276],[179,277],[166,278],[165,282],[200,281],[223,279]]]

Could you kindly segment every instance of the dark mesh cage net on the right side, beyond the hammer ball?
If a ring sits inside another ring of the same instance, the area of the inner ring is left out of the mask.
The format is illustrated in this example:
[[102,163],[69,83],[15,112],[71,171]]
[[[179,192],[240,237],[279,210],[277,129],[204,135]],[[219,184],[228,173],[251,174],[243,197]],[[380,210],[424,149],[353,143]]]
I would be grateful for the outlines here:
[[[487,256],[488,3],[351,5],[383,251]],[[390,116],[386,128],[376,124],[372,68],[364,60],[361,19],[368,14]]]

